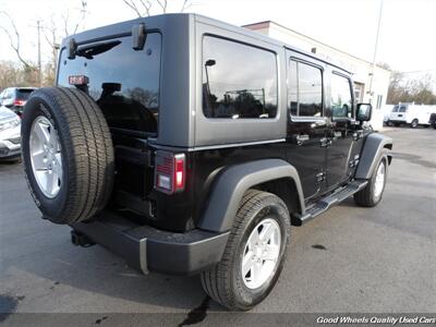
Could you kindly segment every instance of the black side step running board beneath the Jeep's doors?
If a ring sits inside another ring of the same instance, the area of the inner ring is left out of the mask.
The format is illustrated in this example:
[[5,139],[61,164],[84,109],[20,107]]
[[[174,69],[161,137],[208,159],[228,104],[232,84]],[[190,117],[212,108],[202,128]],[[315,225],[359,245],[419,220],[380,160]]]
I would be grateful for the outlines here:
[[334,205],[341,203],[347,197],[364,189],[368,181],[355,180],[344,185],[343,187],[335,191],[334,193],[327,195],[326,197],[323,197],[312,207],[310,207],[304,215],[302,216],[299,215],[295,217],[298,219],[298,225],[303,225],[308,220],[315,218],[316,216],[323,214]]

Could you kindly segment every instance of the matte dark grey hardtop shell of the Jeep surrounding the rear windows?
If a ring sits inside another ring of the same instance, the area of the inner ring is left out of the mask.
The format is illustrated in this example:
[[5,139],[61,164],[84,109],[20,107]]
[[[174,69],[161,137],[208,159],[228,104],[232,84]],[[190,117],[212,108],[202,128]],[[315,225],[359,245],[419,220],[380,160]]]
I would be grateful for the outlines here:
[[[109,38],[129,37],[132,35],[133,26],[141,23],[145,24],[147,32],[157,32],[162,36],[159,133],[156,138],[150,140],[150,143],[157,145],[196,148],[229,143],[277,142],[286,136],[286,49],[292,49],[314,61],[325,62],[314,53],[294,49],[259,33],[206,16],[185,13],[142,17],[86,31],[65,38],[61,51],[68,50],[71,38],[81,46]],[[203,39],[206,35],[276,53],[278,100],[275,119],[251,121],[240,119],[238,122],[228,119],[226,122],[206,118],[202,107]],[[59,69],[61,70],[62,65]]]

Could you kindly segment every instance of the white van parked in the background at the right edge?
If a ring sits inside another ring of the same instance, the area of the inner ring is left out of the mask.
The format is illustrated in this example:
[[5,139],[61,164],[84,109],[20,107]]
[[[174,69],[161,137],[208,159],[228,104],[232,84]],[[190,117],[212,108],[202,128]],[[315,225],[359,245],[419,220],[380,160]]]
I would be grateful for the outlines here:
[[429,116],[436,112],[436,106],[399,104],[393,106],[387,120],[388,126],[408,124],[415,129],[419,125],[429,125]]

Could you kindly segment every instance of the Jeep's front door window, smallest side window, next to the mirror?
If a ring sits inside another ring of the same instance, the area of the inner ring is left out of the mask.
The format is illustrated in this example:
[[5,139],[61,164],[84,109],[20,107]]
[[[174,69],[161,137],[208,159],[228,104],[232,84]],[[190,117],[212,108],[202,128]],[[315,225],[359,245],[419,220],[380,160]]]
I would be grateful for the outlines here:
[[331,75],[331,117],[353,117],[350,80],[335,73]]

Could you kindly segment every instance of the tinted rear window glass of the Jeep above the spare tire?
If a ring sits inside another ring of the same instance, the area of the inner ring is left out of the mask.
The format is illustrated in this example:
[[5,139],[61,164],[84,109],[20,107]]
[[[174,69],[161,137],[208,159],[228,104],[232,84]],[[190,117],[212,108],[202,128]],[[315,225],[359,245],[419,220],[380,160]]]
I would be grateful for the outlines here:
[[[161,36],[147,35],[143,50],[132,49],[132,37],[104,40],[104,51],[80,46],[75,59],[61,55],[58,84],[69,85],[70,75],[86,75],[89,95],[112,129],[157,133]],[[93,53],[95,52],[95,53]],[[100,52],[100,53],[97,53]]]

